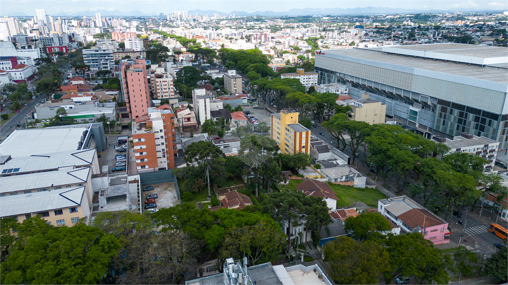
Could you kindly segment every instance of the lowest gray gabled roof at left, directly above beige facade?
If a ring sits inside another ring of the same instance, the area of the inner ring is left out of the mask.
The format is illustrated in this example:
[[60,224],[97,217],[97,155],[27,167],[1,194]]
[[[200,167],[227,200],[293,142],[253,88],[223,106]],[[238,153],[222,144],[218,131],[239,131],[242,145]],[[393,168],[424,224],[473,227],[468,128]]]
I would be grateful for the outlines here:
[[56,210],[81,205],[85,187],[65,188],[37,193],[0,197],[0,217]]

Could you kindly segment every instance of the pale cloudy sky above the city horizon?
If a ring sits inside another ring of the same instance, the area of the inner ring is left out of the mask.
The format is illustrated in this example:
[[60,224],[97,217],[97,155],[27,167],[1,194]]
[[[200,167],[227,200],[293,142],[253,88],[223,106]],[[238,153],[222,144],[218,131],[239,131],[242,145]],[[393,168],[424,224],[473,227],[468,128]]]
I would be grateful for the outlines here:
[[231,11],[244,11],[248,13],[256,11],[284,12],[293,8],[357,8],[357,7],[387,7],[418,10],[491,10],[508,11],[506,0],[463,0],[463,1],[437,1],[437,0],[405,0],[405,1],[345,1],[345,0],[0,0],[0,15],[10,13],[25,13],[35,15],[36,9],[45,9],[46,14],[58,14],[61,12],[74,14],[94,10],[118,10],[130,12],[138,10],[142,13],[158,14],[163,12],[170,14],[174,11],[189,10],[217,10],[224,13]]

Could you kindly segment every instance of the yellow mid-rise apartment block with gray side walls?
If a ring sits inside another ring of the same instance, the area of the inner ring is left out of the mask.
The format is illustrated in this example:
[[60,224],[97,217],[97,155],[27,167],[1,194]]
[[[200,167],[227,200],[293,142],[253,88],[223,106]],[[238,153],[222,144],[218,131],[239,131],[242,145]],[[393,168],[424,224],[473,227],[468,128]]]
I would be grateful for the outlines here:
[[283,154],[310,153],[310,130],[298,123],[298,113],[272,114],[270,137]]

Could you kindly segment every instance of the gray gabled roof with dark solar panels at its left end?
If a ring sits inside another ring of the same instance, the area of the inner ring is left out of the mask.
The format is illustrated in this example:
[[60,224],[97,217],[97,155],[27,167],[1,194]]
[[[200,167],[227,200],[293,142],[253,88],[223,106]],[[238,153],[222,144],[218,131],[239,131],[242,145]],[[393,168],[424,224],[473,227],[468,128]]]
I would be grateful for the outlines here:
[[87,149],[17,157],[9,160],[4,165],[0,165],[0,175],[13,173],[12,171],[7,173],[7,170],[16,168],[19,168],[18,171],[16,171],[17,173],[23,173],[58,169],[59,167],[67,166],[91,165],[93,158],[96,157],[96,152],[96,149]]

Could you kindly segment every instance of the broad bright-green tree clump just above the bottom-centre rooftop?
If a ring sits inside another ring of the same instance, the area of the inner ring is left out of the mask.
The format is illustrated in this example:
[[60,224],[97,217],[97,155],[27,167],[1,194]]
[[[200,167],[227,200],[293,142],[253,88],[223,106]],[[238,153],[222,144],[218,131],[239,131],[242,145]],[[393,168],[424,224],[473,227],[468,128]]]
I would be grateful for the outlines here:
[[[251,207],[251,206],[247,206]],[[273,262],[282,250],[285,236],[279,225],[259,211],[220,208],[198,210],[191,204],[159,209],[152,215],[162,233],[183,232],[200,241],[202,252],[216,253],[222,264],[226,258],[247,257],[249,265]]]

